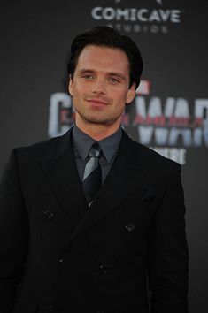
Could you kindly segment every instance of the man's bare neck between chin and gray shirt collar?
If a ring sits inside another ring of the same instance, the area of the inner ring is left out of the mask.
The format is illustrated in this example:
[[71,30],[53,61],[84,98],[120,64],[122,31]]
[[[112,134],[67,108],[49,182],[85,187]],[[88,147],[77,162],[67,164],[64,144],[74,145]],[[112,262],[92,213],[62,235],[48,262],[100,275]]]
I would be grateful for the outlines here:
[[85,134],[88,134],[89,137],[93,138],[95,141],[102,141],[104,138],[114,134],[120,126],[120,121],[114,123],[113,125],[102,125],[96,123],[81,123],[80,120],[75,120],[76,126],[81,129]]

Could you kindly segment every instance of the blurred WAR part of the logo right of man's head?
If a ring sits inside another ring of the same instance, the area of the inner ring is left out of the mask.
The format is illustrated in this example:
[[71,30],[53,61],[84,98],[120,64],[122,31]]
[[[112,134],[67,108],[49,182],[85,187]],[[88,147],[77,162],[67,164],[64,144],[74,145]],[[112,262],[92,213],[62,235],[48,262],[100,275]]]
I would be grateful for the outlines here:
[[150,95],[150,86],[143,80],[135,96],[136,140],[185,164],[187,148],[208,147],[208,99],[161,98]]

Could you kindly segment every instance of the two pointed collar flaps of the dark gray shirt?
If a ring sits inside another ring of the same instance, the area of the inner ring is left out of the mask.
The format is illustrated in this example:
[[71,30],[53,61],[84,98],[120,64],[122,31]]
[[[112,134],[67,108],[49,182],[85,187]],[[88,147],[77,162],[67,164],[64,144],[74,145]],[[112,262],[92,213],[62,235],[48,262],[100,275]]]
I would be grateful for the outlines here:
[[[111,162],[112,157],[119,149],[119,142],[121,137],[122,131],[121,127],[119,127],[119,129],[114,134],[104,138],[102,141],[98,141],[108,162]],[[88,156],[89,149],[92,147],[94,141],[95,140],[93,138],[82,132],[81,129],[76,125],[73,126],[73,144],[83,160],[85,160]]]

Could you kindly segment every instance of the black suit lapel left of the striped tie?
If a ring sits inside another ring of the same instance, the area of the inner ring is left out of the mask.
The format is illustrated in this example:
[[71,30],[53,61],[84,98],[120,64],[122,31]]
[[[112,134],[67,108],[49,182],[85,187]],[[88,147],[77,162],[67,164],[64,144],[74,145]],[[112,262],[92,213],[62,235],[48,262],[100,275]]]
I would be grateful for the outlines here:
[[76,210],[82,216],[88,206],[73,156],[72,130],[55,141],[49,156],[42,160],[42,169],[67,215],[72,216],[72,210]]

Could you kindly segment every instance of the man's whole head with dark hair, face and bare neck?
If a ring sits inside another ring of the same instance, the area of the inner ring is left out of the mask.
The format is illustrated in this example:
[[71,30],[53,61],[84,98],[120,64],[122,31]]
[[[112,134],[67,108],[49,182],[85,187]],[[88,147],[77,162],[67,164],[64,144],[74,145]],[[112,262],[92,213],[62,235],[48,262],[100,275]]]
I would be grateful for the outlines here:
[[91,136],[102,134],[96,139],[113,134],[143,69],[135,43],[110,27],[94,27],[73,40],[68,69],[76,125]]

